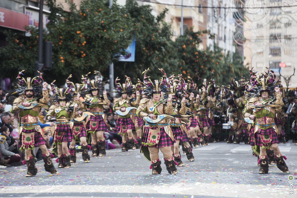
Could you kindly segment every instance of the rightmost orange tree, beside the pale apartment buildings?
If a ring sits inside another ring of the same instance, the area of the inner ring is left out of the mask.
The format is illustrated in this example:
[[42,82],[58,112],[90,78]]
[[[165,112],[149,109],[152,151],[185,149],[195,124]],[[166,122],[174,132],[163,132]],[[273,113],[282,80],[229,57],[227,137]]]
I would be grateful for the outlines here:
[[[222,53],[222,48],[214,46],[213,50],[208,47],[206,50],[199,50],[201,36],[207,34],[208,38],[214,39],[213,34],[207,30],[194,32],[193,28],[188,28],[183,36],[179,36],[172,41],[175,47],[173,56],[178,60],[178,69],[172,71],[175,74],[181,73],[190,76],[200,87],[202,79],[214,79],[216,84],[229,84],[230,81],[237,77],[246,76],[248,69],[242,63],[231,61],[230,53]],[[237,53],[238,54],[238,53]],[[234,56],[234,55],[233,55]],[[237,60],[237,59],[236,59]]]

